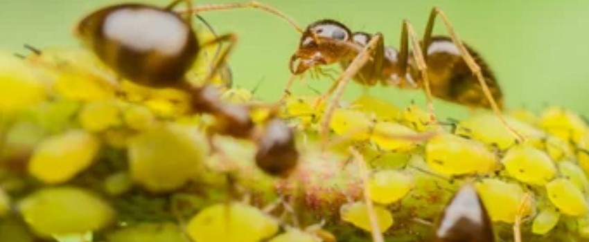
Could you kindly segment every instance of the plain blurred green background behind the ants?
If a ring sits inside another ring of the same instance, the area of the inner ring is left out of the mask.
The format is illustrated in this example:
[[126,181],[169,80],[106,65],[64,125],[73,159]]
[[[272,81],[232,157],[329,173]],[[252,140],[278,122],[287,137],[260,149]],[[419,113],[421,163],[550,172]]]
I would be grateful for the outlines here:
[[[234,0],[238,1],[238,0]],[[204,3],[234,1],[208,0]],[[409,19],[419,35],[432,6],[441,7],[461,39],[485,57],[498,77],[510,108],[534,111],[559,104],[589,115],[589,1],[426,1],[426,0],[261,0],[283,10],[305,26],[333,18],[352,30],[383,32],[387,45],[398,46],[401,20]],[[71,30],[87,12],[120,2],[113,0],[1,0],[0,49],[24,53],[22,44],[76,46]],[[147,1],[164,6],[168,1]],[[281,19],[257,10],[204,13],[217,32],[236,32],[238,47],[230,64],[234,82],[253,87],[263,80],[258,95],[276,100],[290,75],[288,59],[299,35]],[[441,22],[438,33],[445,30]],[[334,66],[334,68],[338,68]],[[295,93],[322,91],[329,82],[306,79]],[[362,89],[353,84],[346,96],[363,91],[400,106],[412,100],[425,103],[421,91],[399,91],[377,86]],[[468,110],[446,102],[435,103],[441,116],[460,117]],[[425,106],[423,106],[425,108]]]

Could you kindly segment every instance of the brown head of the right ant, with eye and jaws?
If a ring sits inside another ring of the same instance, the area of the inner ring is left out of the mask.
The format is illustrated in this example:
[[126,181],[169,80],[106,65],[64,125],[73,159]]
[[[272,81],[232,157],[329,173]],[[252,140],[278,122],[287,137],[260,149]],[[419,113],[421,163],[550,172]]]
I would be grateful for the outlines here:
[[338,21],[324,19],[310,24],[290,58],[290,72],[301,74],[313,66],[340,61],[353,49],[351,36],[350,30]]

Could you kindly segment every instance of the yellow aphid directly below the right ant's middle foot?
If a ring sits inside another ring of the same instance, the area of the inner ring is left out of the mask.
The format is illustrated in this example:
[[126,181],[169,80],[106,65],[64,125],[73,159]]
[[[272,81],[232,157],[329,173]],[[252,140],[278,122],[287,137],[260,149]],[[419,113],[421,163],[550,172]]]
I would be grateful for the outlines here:
[[384,151],[408,151],[419,142],[395,138],[394,136],[414,136],[417,132],[396,122],[377,122],[370,140]]

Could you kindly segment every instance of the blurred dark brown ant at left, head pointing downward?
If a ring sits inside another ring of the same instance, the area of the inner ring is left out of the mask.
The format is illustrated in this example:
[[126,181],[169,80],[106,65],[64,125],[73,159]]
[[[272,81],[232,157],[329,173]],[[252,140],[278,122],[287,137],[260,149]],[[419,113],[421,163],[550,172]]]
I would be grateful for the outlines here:
[[[181,2],[186,3],[188,10],[173,11]],[[258,129],[250,115],[253,104],[222,102],[218,88],[210,82],[224,66],[237,37],[229,33],[199,43],[192,26],[193,14],[190,0],[175,0],[164,8],[121,3],[87,15],[76,27],[76,33],[98,59],[130,82],[189,93],[192,113],[208,113],[216,120],[207,130],[209,141],[213,133],[253,140],[258,145],[258,167],[274,176],[288,176],[299,158],[292,130],[283,120],[274,118],[272,113],[276,111],[271,110],[265,127]],[[204,84],[190,84],[184,75],[200,50],[226,41],[229,46],[211,65]],[[212,142],[211,147],[214,150]]]

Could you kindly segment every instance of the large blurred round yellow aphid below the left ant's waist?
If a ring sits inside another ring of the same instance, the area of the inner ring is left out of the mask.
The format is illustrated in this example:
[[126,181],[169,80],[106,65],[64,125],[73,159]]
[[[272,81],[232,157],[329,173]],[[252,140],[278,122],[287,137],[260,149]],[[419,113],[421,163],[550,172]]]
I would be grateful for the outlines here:
[[161,124],[130,140],[130,174],[151,192],[172,191],[202,171],[208,150],[197,129]]

